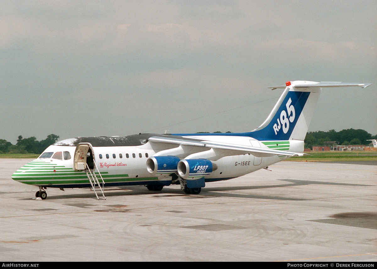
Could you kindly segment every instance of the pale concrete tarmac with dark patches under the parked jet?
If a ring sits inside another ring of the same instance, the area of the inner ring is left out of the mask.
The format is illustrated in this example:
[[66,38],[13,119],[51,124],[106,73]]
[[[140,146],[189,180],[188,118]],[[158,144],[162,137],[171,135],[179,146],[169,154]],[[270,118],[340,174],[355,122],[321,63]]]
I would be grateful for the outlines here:
[[0,159],[0,261],[377,261],[377,166],[283,161],[199,195],[38,188]]

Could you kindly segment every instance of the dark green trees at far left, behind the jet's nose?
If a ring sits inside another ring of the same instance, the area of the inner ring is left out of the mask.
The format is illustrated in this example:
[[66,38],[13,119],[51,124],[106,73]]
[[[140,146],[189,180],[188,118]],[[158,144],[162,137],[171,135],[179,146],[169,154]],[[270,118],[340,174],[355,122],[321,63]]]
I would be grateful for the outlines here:
[[50,134],[46,139],[38,141],[37,138],[22,138],[18,136],[17,143],[13,145],[5,139],[0,139],[0,153],[35,153],[41,154],[48,146],[58,141],[59,136]]

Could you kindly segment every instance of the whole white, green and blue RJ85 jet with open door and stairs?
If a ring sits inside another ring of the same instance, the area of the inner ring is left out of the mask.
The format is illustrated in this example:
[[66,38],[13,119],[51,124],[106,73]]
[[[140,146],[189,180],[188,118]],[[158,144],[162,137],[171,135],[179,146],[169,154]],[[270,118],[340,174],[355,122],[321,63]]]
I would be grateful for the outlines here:
[[12,179],[47,188],[91,188],[106,199],[104,186],[144,185],[150,191],[179,184],[199,194],[206,183],[241,177],[293,156],[303,156],[304,139],[322,88],[371,83],[288,81],[270,115],[250,132],[136,134],[78,137],[49,146]]

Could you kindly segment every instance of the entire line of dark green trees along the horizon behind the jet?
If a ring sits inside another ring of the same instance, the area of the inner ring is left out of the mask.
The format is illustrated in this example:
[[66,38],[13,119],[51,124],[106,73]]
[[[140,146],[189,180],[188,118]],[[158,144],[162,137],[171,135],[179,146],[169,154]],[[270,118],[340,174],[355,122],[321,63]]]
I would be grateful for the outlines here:
[[[209,132],[198,132],[209,133]],[[221,133],[220,131],[214,133]],[[228,131],[227,133],[231,133]],[[58,141],[59,136],[50,134],[46,139],[38,141],[37,138],[29,137],[23,138],[18,136],[17,143],[13,145],[4,139],[0,139],[0,153],[35,153],[41,154],[48,146]],[[313,146],[324,146],[326,141],[337,141],[340,145],[363,145],[369,144],[369,139],[377,139],[377,135],[371,135],[362,129],[344,129],[336,132],[330,130],[328,132],[316,131],[308,132],[305,137],[305,148],[312,148]]]

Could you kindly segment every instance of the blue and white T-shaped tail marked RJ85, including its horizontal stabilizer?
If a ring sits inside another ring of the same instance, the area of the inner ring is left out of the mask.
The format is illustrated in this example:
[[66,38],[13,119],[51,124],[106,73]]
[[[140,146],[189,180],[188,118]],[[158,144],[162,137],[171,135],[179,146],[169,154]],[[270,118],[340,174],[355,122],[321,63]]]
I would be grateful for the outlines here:
[[321,88],[359,86],[371,84],[342,82],[288,81],[273,110],[261,126],[251,131],[251,137],[271,140],[304,140]]

